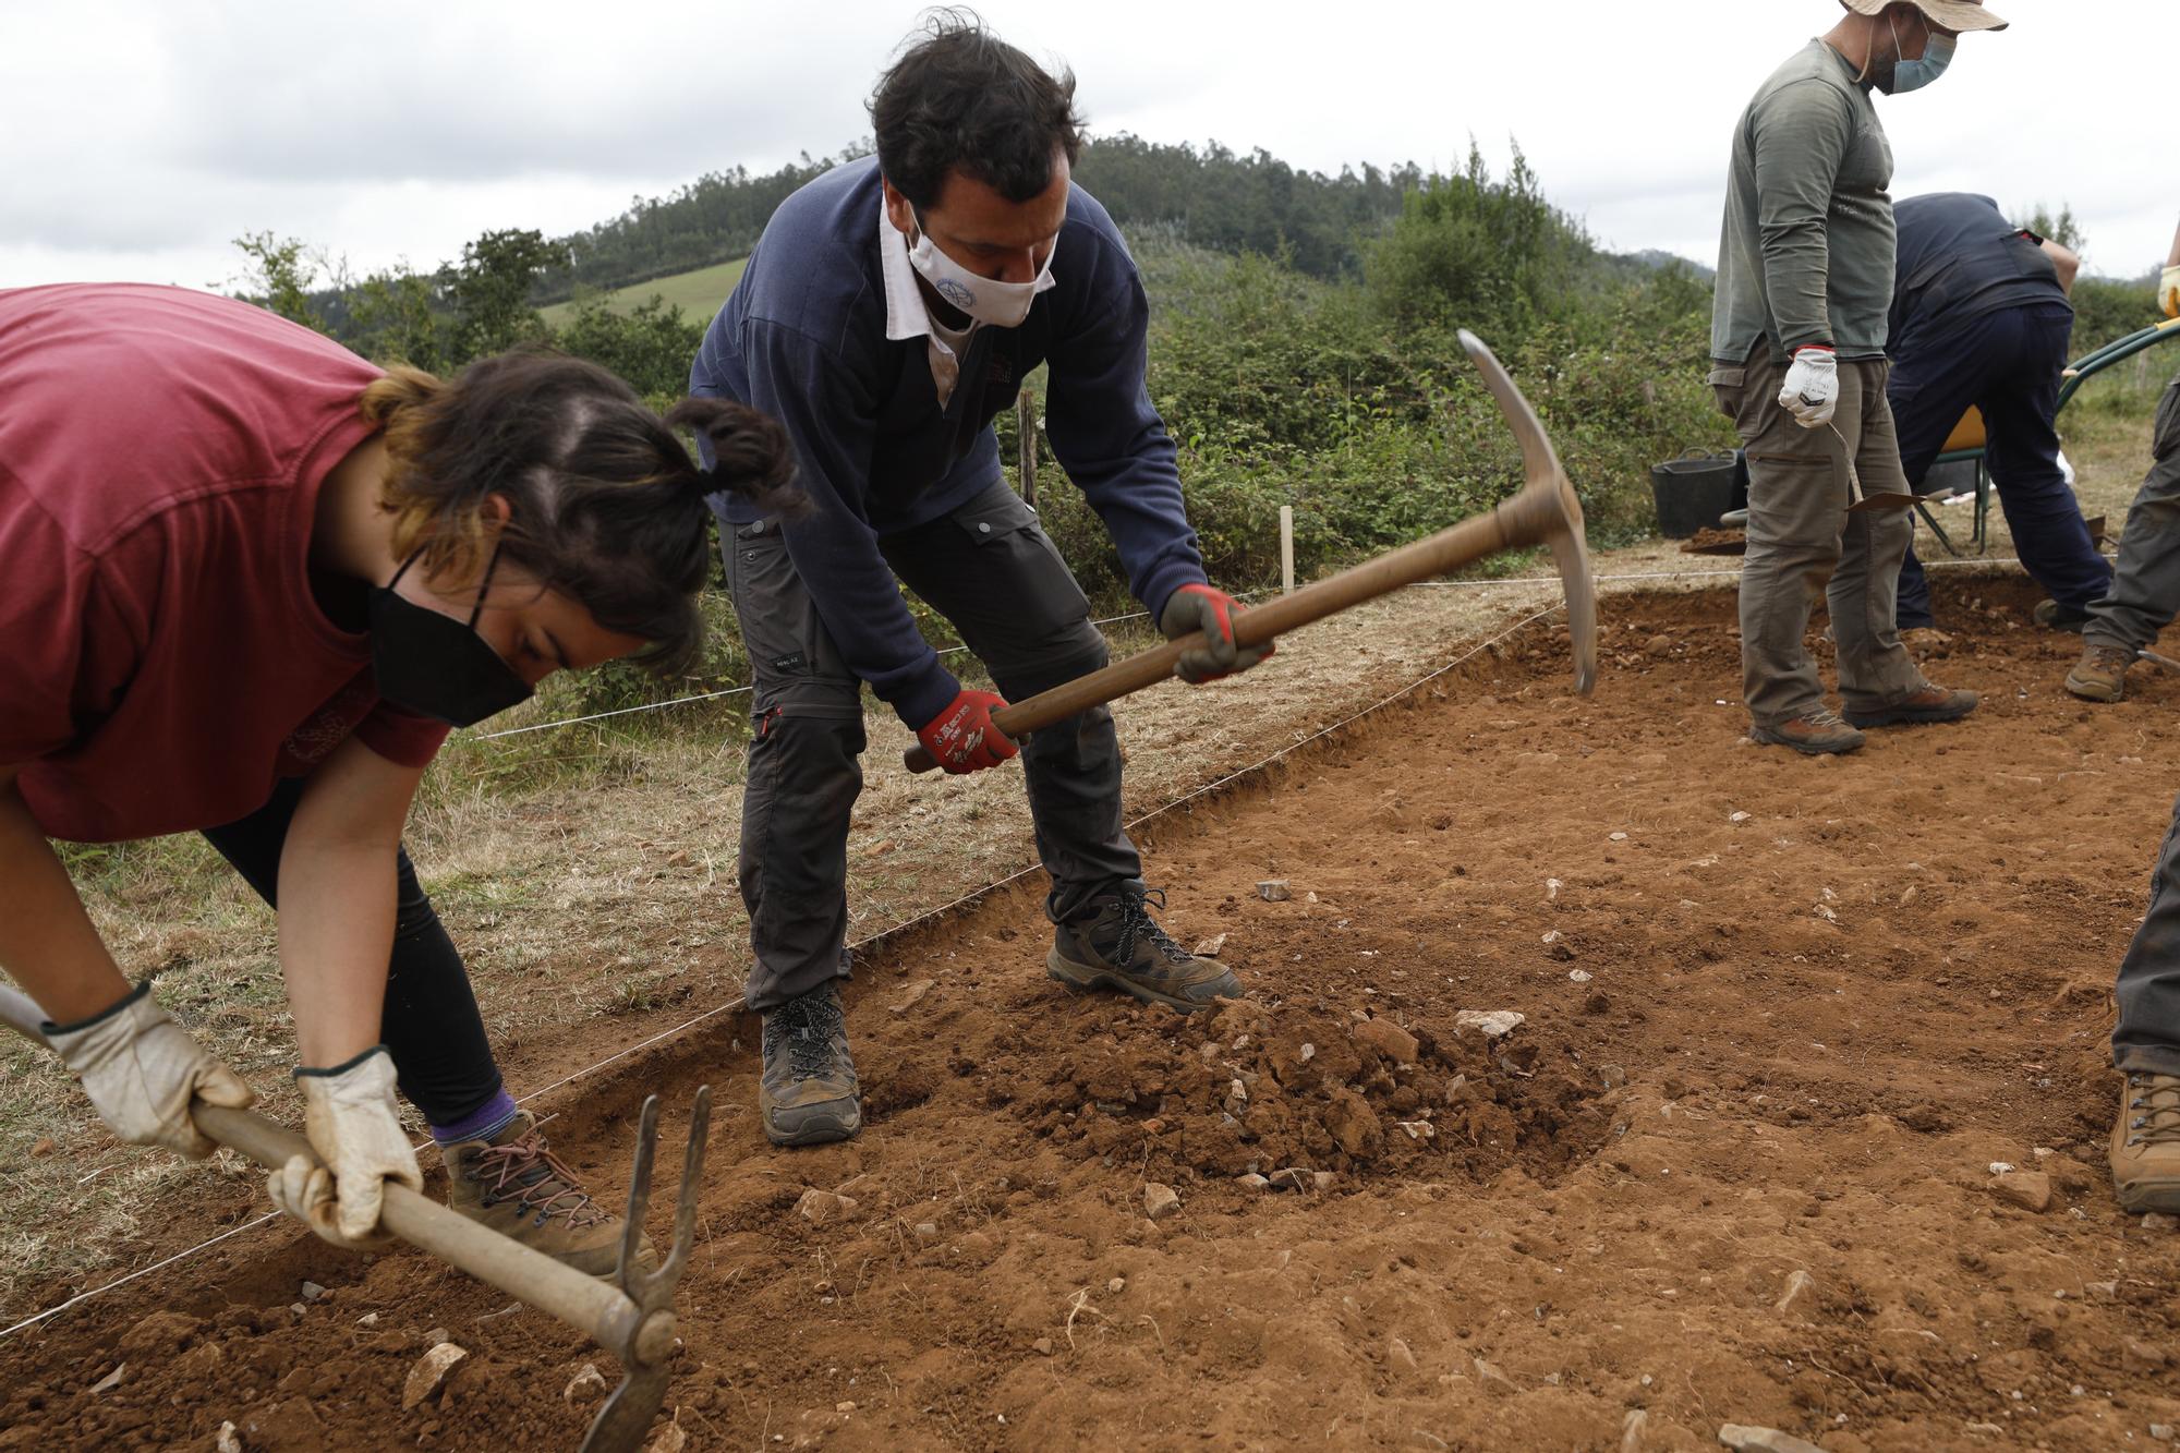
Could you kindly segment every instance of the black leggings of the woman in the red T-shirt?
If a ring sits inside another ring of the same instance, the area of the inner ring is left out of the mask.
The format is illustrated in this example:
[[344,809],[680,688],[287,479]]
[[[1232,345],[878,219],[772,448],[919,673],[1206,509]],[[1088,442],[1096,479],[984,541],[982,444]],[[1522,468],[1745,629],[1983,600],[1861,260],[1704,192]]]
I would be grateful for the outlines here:
[[[277,905],[279,855],[288,825],[303,801],[303,779],[283,779],[272,801],[227,827],[205,829],[205,840],[235,866],[266,903]],[[386,1008],[379,1034],[401,1093],[427,1124],[453,1126],[499,1093],[499,1067],[484,1036],[477,997],[469,990],[462,956],[447,938],[432,899],[416,881],[405,849],[395,849],[395,953],[386,966]]]

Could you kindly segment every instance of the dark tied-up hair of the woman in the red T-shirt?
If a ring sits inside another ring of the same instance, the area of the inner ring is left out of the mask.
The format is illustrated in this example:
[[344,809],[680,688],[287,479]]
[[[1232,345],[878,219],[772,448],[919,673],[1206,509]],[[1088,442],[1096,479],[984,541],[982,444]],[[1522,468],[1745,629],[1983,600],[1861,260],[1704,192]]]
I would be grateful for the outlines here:
[[[689,663],[704,626],[708,495],[800,515],[794,456],[776,421],[728,399],[682,399],[663,419],[617,375],[552,349],[480,358],[451,382],[392,369],[364,388],[386,439],[384,508],[395,554],[471,578],[497,545],[600,626],[647,641],[658,674]],[[700,469],[676,428],[704,436]],[[493,530],[484,506],[506,500]]]

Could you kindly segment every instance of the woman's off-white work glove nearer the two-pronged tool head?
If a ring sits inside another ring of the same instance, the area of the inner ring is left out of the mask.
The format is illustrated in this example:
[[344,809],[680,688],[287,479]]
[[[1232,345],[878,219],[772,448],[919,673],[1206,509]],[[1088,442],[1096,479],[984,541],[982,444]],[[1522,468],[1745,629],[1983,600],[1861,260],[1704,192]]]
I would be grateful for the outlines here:
[[395,1113],[392,1056],[373,1045],[334,1069],[299,1069],[294,1082],[303,1091],[303,1134],[325,1165],[294,1156],[266,1176],[266,1193],[334,1246],[386,1246],[390,1237],[377,1228],[384,1182],[423,1189],[423,1167]]

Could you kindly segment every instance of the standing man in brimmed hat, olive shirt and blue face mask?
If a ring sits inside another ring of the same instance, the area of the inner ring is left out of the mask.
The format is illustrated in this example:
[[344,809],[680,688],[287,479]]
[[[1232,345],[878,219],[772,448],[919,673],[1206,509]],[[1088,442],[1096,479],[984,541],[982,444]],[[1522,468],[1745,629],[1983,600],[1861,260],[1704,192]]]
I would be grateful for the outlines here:
[[[1894,591],[1912,524],[1849,513],[1908,493],[1886,404],[1892,146],[1870,89],[1936,81],[1964,31],[2001,31],[1982,0],[1842,0],[1851,11],[1757,89],[1733,135],[1718,242],[1711,375],[1748,447],[1742,698],[1755,742],[1851,753],[1862,726],[1949,722],[1973,692],[1931,685],[1901,646]],[[1846,720],[1803,635],[1825,585]]]

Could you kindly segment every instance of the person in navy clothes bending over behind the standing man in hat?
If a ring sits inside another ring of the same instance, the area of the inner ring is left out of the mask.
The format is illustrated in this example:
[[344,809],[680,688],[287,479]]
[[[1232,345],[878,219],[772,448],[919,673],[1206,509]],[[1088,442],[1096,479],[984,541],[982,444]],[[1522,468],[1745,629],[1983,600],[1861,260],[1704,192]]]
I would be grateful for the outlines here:
[[[2058,388],[2073,338],[2073,251],[2006,220],[1988,196],[1934,192],[1894,207],[1890,343],[1886,401],[1912,487],[1929,476],[1947,436],[1969,408],[1984,415],[1990,480],[2014,537],[2014,554],[2051,598],[2036,620],[2080,631],[2088,604],[2112,583],[2112,567],[2088,539],[2088,524],[2058,463]],[[1901,561],[1899,626],[1934,626],[1929,578]]]

